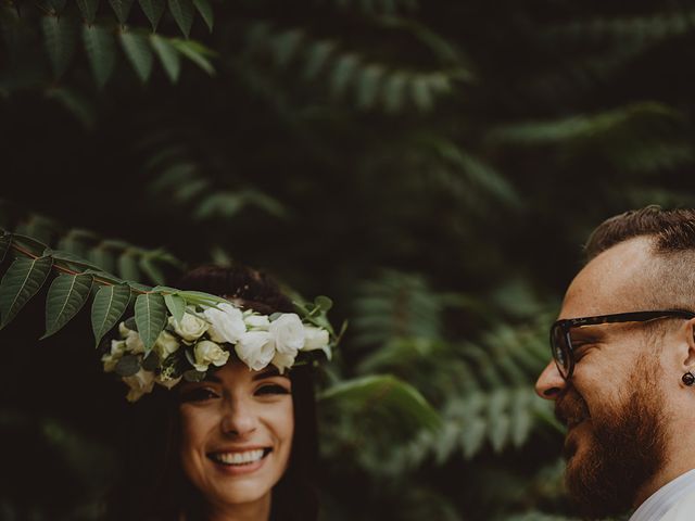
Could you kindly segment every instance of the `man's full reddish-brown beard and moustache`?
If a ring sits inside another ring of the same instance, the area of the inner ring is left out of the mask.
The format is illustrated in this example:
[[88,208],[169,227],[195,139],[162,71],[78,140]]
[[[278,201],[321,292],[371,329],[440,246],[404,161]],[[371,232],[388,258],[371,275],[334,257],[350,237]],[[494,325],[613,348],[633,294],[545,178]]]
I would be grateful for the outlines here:
[[558,398],[555,415],[578,423],[590,419],[581,452],[571,432],[565,443],[568,460],[565,481],[580,513],[589,519],[617,516],[634,503],[637,491],[666,460],[664,409],[656,385],[647,376],[617,410],[595,407],[591,418],[584,399],[573,387]]

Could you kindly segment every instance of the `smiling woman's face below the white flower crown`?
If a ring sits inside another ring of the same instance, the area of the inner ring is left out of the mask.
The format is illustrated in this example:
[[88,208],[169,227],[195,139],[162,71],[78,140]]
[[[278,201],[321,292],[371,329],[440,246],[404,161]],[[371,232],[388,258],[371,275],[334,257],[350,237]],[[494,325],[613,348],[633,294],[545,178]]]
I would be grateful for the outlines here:
[[181,466],[212,508],[267,501],[290,458],[292,383],[236,361],[180,390]]

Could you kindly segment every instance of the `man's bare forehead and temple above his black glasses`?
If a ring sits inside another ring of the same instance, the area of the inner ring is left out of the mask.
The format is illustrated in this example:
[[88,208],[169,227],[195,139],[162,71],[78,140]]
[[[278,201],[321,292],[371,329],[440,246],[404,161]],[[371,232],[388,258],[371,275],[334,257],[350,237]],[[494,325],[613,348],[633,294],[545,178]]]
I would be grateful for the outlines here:
[[561,318],[624,313],[644,307],[655,258],[652,240],[640,237],[594,257],[569,285]]

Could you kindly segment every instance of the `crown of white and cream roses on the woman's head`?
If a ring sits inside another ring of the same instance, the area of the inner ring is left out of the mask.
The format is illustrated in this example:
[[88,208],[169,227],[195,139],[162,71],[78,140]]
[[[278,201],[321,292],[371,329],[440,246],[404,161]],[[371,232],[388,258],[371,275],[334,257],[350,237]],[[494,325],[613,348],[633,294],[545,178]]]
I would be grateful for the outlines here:
[[[329,326],[330,327],[330,326]],[[336,342],[332,342],[334,345]],[[101,361],[105,372],[116,372],[128,385],[129,402],[151,393],[159,383],[172,389],[181,379],[201,381],[210,366],[224,366],[233,348],[249,369],[274,365],[280,373],[294,365],[331,357],[331,333],[294,313],[261,315],[233,303],[187,306],[147,350],[135,317],[121,322],[118,338],[106,344]]]

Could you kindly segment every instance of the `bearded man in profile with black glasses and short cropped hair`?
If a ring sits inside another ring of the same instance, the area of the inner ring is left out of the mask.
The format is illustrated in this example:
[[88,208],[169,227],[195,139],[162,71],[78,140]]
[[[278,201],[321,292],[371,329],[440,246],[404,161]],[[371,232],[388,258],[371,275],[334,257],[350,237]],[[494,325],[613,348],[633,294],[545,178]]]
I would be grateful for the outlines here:
[[618,215],[586,253],[536,382],[568,491],[590,519],[695,520],[695,211]]

